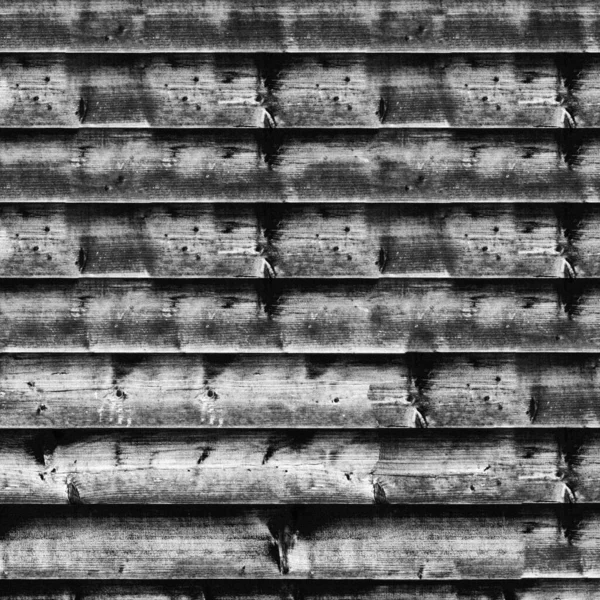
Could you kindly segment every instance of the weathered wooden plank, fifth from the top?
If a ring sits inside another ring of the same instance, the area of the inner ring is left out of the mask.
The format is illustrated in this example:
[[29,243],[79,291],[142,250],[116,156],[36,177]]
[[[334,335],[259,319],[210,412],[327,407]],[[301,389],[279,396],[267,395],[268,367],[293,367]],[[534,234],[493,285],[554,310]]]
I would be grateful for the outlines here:
[[596,280],[3,280],[2,352],[593,352]]

